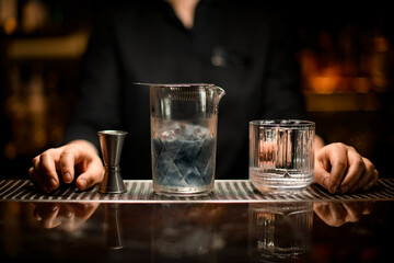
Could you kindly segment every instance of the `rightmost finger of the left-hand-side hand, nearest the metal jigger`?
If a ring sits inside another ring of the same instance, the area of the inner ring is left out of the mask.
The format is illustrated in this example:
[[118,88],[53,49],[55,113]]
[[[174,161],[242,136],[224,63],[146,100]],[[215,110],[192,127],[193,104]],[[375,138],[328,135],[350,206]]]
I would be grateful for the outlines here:
[[100,183],[104,178],[104,168],[101,161],[92,161],[86,165],[86,169],[77,179],[77,187],[81,191],[92,187]]

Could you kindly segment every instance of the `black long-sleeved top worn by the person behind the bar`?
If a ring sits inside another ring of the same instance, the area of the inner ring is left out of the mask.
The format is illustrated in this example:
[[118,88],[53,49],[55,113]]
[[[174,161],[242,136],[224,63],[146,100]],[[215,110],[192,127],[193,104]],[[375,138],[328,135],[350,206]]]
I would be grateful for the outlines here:
[[306,117],[294,32],[260,2],[201,0],[192,30],[165,1],[112,9],[92,32],[63,144],[86,139],[100,151],[99,130],[127,130],[123,178],[151,179],[149,88],[134,83],[213,83],[225,90],[216,178],[247,179],[248,122]]

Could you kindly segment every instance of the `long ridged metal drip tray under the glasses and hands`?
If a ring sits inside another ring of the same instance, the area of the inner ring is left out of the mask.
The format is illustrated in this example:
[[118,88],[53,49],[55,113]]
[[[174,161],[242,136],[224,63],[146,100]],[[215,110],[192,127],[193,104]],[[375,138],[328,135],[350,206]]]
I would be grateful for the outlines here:
[[300,201],[378,201],[394,199],[394,180],[380,180],[367,192],[332,195],[318,185],[290,194],[262,194],[248,180],[217,180],[215,191],[205,196],[157,195],[152,181],[125,180],[124,194],[102,194],[100,185],[81,192],[73,185],[60,187],[49,194],[36,188],[30,180],[0,180],[0,201],[18,202],[102,202],[102,203],[260,203]]

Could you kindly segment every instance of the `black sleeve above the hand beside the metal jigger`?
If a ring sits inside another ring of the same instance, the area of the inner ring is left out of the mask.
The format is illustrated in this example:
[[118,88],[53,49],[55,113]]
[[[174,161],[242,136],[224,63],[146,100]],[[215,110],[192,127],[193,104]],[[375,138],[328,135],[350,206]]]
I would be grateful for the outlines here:
[[116,129],[120,124],[115,39],[112,23],[95,26],[83,58],[81,89],[63,144],[85,139],[100,149],[97,132]]

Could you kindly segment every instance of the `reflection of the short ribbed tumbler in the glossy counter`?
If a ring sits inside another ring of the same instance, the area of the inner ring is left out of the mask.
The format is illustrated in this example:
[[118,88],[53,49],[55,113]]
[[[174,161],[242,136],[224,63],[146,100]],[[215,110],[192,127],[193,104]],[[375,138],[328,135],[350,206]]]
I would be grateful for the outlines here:
[[250,256],[258,262],[280,262],[309,253],[312,221],[312,202],[250,204]]

